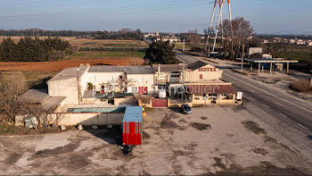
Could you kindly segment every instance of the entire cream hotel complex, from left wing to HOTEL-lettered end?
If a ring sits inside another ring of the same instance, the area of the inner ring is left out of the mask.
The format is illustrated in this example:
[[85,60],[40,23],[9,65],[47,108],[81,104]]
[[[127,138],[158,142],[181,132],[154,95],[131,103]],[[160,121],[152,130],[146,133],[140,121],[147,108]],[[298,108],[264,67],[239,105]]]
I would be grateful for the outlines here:
[[[137,94],[157,95],[159,89],[165,89],[169,97],[185,95],[195,101],[196,95],[179,92],[179,89],[202,86],[221,86],[219,95],[228,94],[226,88],[234,90],[231,83],[221,80],[222,71],[201,61],[173,65],[152,66],[80,66],[59,72],[48,83],[49,96],[63,97],[62,105],[131,105]],[[116,98],[115,94],[127,95]],[[208,96],[204,92],[205,97]],[[230,92],[231,94],[233,91]],[[192,97],[192,98],[191,98]],[[230,97],[230,100],[228,100]],[[201,99],[200,98],[200,99]],[[222,102],[234,103],[234,96],[220,96]],[[130,100],[132,99],[132,100]],[[111,104],[110,101],[113,101]],[[131,102],[132,101],[132,102]],[[130,102],[130,103],[129,103]],[[197,101],[209,104],[209,101]]]

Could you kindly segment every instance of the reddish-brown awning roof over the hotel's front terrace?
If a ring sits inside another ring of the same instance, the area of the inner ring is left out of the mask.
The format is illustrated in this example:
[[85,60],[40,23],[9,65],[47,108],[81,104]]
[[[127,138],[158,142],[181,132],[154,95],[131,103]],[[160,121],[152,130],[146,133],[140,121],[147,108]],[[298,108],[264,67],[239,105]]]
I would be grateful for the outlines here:
[[188,94],[236,94],[237,91],[232,85],[191,85],[187,86]]

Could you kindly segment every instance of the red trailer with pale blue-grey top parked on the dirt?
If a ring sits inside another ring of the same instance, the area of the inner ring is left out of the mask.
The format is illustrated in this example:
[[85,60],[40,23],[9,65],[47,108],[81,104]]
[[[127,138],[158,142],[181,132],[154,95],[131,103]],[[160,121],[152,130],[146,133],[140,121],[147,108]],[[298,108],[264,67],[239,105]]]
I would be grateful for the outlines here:
[[122,121],[122,144],[124,154],[132,154],[136,146],[142,145],[143,107],[129,106]]

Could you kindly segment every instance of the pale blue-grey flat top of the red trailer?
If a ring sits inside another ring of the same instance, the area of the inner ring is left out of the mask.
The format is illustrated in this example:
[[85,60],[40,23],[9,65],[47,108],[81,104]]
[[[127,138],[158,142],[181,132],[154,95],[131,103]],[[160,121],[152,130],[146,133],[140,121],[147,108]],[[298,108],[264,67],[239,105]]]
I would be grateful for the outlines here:
[[142,122],[142,115],[142,106],[128,106],[122,122]]

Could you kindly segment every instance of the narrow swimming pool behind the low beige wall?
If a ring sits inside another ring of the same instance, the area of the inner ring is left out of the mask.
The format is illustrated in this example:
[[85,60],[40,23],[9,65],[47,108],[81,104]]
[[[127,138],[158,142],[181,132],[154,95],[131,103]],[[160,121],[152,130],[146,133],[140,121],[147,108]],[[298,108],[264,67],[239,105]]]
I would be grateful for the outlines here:
[[69,108],[67,113],[125,113],[126,107]]

